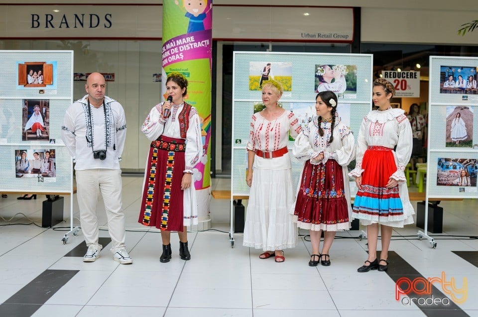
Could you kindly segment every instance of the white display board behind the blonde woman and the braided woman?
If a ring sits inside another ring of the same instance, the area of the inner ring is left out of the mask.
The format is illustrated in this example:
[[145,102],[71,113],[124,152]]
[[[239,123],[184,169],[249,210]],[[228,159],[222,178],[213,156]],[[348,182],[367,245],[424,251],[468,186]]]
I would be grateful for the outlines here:
[[[323,87],[321,74],[329,67],[338,68],[345,74],[346,87],[336,87],[339,98],[337,112],[342,120],[348,123],[356,137],[362,119],[371,110],[373,61],[370,54],[234,52],[231,199],[235,195],[249,194],[249,187],[245,182],[246,146],[251,117],[263,107],[259,80],[260,72],[268,63],[273,76],[271,79],[284,86],[279,102],[283,108],[292,111],[304,127],[316,115],[315,99],[317,91],[321,91]],[[334,82],[335,80],[332,81]],[[289,152],[293,144],[294,141],[289,137]],[[296,188],[303,162],[292,155],[291,159],[293,186]],[[355,161],[353,164],[355,165]],[[353,167],[349,166],[350,169]],[[231,224],[231,238],[232,233]]]

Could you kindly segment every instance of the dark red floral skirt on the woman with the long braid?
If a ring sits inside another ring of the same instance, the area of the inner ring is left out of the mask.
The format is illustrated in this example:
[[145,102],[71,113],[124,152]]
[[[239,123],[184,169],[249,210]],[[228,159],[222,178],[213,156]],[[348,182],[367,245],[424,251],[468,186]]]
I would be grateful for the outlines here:
[[300,181],[294,210],[297,221],[324,224],[324,228],[349,222],[342,166],[336,160],[318,165],[306,161]]

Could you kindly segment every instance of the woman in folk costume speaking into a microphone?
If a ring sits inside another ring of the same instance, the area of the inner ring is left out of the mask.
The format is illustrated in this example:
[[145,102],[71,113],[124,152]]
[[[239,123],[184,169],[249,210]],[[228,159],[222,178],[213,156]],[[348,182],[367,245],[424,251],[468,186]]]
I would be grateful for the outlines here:
[[171,231],[179,235],[179,256],[190,260],[187,226],[198,223],[193,168],[202,156],[201,123],[187,104],[188,81],[177,72],[166,79],[167,101],[154,106],[141,131],[151,142],[138,222],[161,229],[162,263],[172,257]]

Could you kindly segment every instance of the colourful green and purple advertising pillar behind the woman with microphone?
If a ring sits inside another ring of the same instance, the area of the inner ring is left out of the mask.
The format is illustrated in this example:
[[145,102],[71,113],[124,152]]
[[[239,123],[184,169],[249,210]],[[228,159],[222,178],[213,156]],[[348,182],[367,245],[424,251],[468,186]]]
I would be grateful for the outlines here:
[[194,171],[199,222],[209,221],[212,2],[163,0],[162,91],[166,91],[169,73],[182,73],[189,82],[184,99],[198,110],[201,118],[203,156]]

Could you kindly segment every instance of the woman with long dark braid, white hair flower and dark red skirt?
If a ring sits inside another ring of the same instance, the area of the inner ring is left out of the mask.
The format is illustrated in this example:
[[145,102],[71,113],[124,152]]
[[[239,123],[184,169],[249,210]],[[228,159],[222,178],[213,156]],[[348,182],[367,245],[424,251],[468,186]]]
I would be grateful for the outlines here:
[[[316,97],[317,116],[294,143],[294,156],[305,160],[299,179],[294,221],[310,230],[310,266],[330,265],[329,250],[338,230],[351,225],[347,165],[354,159],[354,135],[337,114],[337,96],[332,91]],[[321,232],[324,244],[320,250]]]

